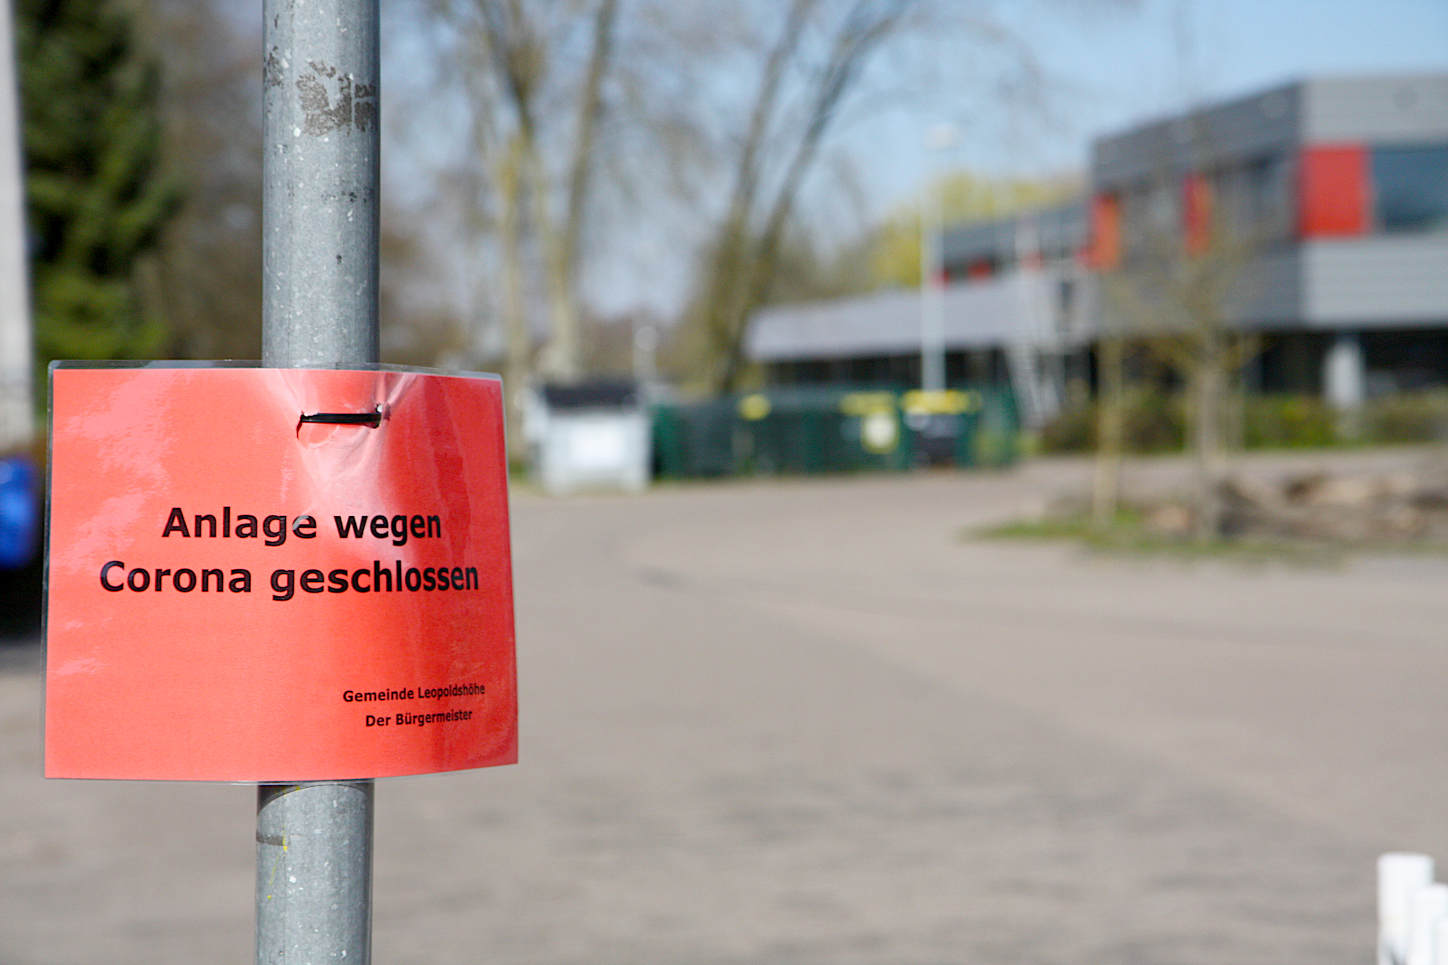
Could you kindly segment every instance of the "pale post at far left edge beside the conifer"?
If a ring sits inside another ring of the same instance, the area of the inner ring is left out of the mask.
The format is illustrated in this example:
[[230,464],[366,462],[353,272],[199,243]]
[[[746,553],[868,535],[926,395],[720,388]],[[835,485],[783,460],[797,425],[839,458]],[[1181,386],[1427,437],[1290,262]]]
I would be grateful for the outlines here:
[[30,306],[25,256],[19,83],[10,0],[0,0],[0,454],[30,443]]

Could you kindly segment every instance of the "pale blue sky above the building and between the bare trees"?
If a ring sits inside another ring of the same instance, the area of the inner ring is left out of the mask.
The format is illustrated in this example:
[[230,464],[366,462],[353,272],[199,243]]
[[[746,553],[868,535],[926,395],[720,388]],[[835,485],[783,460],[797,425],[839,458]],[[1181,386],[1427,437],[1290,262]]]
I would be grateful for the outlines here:
[[[1193,100],[1325,74],[1448,72],[1448,0],[961,0],[959,10],[979,7],[1043,65],[1047,110],[1012,113],[1002,101],[990,72],[998,52],[954,39],[917,51],[937,58],[954,88],[917,87],[883,114],[837,130],[843,151],[811,175],[799,210],[821,239],[857,238],[918,199],[927,177],[946,168],[1079,171],[1093,136]],[[889,85],[886,65],[879,80]],[[930,155],[925,132],[941,120],[959,126],[960,143]],[[847,164],[834,164],[841,155]],[[594,252],[585,284],[595,304],[610,312],[676,307],[707,222],[688,206],[672,223],[650,223],[626,243]]]

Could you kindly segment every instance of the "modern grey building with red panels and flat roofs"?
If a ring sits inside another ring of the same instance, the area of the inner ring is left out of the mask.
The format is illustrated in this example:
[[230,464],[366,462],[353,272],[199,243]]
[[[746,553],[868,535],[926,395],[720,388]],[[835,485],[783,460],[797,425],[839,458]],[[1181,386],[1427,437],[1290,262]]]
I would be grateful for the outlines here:
[[[1148,333],[1111,280],[1189,252],[1222,259],[1225,319],[1263,336],[1251,387],[1354,406],[1448,383],[1448,74],[1308,80],[1138,125],[1092,143],[1089,184],[946,233],[947,381],[1008,378],[1048,417],[1102,332]],[[919,291],[772,309],[749,352],[773,383],[912,383],[924,309]]]

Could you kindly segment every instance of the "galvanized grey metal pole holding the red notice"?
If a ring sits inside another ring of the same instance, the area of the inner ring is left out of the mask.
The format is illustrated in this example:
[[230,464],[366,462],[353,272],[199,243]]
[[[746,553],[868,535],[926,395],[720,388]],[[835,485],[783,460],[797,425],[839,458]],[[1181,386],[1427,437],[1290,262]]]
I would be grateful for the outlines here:
[[[262,362],[378,359],[378,0],[264,0]],[[371,781],[256,794],[256,962],[372,956]]]

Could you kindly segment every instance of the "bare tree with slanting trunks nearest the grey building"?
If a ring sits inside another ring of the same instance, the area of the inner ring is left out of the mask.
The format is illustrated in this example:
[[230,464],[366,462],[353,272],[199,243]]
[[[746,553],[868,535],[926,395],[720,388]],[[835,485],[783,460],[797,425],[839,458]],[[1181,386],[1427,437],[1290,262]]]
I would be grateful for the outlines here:
[[[741,380],[749,325],[770,297],[804,185],[847,114],[859,119],[951,83],[934,55],[946,45],[966,71],[976,59],[966,51],[988,52],[982,70],[1009,75],[1032,103],[1045,83],[1030,46],[985,4],[791,0],[757,12],[772,14],[754,58],[759,80],[686,313],[699,381],[714,391]],[[891,55],[899,55],[893,70],[876,71]]]

